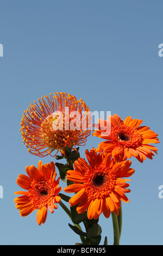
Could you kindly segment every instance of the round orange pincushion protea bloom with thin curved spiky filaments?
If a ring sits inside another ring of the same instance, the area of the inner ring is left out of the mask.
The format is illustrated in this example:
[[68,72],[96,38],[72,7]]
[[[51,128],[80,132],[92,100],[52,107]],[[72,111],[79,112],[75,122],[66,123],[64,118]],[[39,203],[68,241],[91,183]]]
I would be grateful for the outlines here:
[[38,99],[38,104],[31,103],[23,114],[20,131],[28,151],[43,157],[55,149],[64,154],[66,147],[76,149],[76,145],[85,145],[91,133],[91,114],[85,102],[66,93],[45,98],[41,98],[42,102]]

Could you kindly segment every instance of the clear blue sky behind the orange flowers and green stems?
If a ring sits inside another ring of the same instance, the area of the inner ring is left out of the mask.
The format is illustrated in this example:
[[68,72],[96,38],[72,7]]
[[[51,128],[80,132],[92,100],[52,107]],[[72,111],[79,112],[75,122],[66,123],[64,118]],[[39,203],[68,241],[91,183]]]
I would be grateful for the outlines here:
[[[46,223],[39,226],[36,211],[22,218],[14,205],[14,192],[20,190],[18,174],[26,174],[25,167],[37,166],[40,160],[22,142],[23,111],[37,98],[54,92],[82,97],[92,112],[143,119],[143,125],[159,133],[161,143],[153,160],[132,159],[135,174],[130,203],[122,204],[121,245],[162,245],[163,199],[158,197],[163,185],[163,57],[158,55],[163,43],[162,9],[162,0],[1,0],[1,245],[80,241],[60,206],[54,214],[48,212]],[[80,155],[84,157],[85,149],[96,148],[101,141],[90,136]],[[99,224],[101,244],[107,235],[111,245],[111,218],[101,216]]]

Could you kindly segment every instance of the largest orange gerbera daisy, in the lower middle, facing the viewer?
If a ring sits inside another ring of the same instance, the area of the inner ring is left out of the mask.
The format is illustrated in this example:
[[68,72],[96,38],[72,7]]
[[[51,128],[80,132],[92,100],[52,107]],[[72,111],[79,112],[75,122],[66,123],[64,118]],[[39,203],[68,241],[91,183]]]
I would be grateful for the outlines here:
[[85,151],[89,164],[79,157],[74,162],[74,170],[67,171],[67,179],[74,184],[67,186],[67,193],[76,192],[69,200],[70,206],[77,205],[78,214],[87,210],[87,217],[97,219],[103,212],[109,218],[110,212],[119,214],[121,200],[128,203],[129,199],[124,193],[130,192],[126,187],[129,177],[134,169],[129,168],[131,161],[116,162],[111,154],[104,156],[96,153],[92,148],[90,153]]

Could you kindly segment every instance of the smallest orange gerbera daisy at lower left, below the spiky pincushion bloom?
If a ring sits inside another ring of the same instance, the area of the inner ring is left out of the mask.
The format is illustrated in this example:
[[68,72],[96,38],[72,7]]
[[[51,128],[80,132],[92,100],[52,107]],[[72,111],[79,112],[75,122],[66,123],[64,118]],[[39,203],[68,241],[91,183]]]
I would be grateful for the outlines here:
[[28,191],[17,191],[15,194],[23,196],[15,198],[16,208],[19,209],[22,217],[31,214],[37,210],[36,220],[39,225],[45,223],[47,217],[47,208],[53,214],[53,209],[57,209],[56,203],[59,203],[61,198],[58,193],[61,191],[59,187],[60,178],[55,180],[57,176],[55,165],[53,162],[42,164],[38,163],[38,168],[35,166],[26,167],[27,175],[20,174],[16,180],[17,184]]

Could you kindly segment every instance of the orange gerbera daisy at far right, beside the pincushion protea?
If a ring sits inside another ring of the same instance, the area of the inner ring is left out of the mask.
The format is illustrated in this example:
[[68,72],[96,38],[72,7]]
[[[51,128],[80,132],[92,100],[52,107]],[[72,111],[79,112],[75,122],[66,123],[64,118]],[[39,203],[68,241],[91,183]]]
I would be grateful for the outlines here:
[[[95,124],[94,126],[99,130],[95,131],[93,135],[106,139],[106,141],[99,143],[97,152],[111,153],[119,160],[130,159],[131,156],[136,157],[140,162],[146,160],[146,157],[152,159],[158,149],[148,143],[159,143],[159,139],[156,137],[158,134],[149,130],[147,126],[140,126],[142,121],[131,119],[131,117],[127,117],[123,121],[117,114],[109,115],[108,120],[105,121],[99,119],[100,129],[98,124]],[[106,134],[104,134],[105,129]]]

